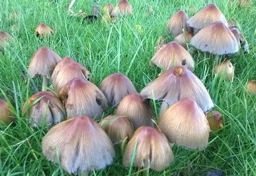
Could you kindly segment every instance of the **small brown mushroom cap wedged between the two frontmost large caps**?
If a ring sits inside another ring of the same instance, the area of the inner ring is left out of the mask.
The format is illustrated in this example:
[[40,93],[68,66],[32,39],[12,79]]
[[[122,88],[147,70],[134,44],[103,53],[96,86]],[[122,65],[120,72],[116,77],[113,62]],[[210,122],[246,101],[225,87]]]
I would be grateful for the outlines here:
[[108,115],[101,122],[100,126],[106,131],[113,144],[129,141],[133,135],[131,122],[125,115]]

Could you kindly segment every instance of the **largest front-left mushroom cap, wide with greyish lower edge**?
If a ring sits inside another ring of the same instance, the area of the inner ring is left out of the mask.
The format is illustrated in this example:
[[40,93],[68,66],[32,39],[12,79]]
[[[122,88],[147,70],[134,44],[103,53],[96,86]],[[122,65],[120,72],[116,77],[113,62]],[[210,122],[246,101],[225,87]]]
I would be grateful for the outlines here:
[[115,157],[108,135],[97,122],[86,116],[68,119],[52,127],[42,140],[42,152],[52,162],[60,161],[68,173],[103,169]]

